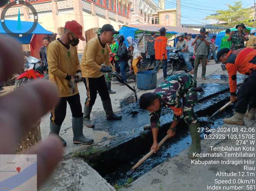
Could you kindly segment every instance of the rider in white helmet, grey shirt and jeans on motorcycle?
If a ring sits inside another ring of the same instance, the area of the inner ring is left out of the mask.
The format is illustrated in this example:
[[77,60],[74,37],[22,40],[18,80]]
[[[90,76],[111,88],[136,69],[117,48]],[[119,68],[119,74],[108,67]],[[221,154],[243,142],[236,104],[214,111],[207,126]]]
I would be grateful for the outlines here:
[[178,33],[177,37],[178,37],[178,42],[176,44],[176,48],[181,49],[181,52],[179,52],[179,54],[183,57],[184,62],[187,65],[188,70],[190,71],[190,74],[193,74],[193,69],[189,61],[188,42],[184,40],[185,36],[183,33]]

